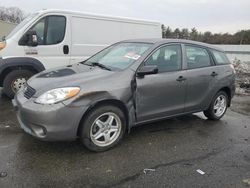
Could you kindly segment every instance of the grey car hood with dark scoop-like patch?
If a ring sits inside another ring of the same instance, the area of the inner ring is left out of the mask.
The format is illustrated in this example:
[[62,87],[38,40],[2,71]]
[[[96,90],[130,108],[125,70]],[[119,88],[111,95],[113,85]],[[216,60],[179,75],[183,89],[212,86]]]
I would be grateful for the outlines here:
[[84,83],[103,80],[116,72],[92,67],[81,63],[45,70],[36,74],[27,81],[27,84],[34,88],[38,96],[45,91],[60,87],[81,87]]

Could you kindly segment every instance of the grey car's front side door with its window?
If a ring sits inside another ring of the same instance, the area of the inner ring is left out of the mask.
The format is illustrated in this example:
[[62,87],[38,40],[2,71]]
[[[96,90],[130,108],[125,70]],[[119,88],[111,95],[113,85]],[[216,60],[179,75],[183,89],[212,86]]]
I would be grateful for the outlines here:
[[[186,94],[185,70],[182,70],[180,44],[168,44],[156,49],[143,66],[157,65],[158,73],[137,76],[137,121],[144,122],[184,111]],[[140,69],[140,68],[139,68]]]

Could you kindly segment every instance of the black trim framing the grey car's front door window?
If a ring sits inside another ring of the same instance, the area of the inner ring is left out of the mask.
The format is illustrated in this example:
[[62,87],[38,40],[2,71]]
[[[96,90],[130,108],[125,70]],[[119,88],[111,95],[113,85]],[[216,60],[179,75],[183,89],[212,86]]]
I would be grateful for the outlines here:
[[181,68],[179,70],[174,70],[174,71],[164,71],[164,72],[159,72],[158,74],[164,74],[164,73],[171,73],[171,72],[179,72],[183,70],[183,62],[184,62],[184,57],[183,57],[183,46],[181,42],[171,42],[171,43],[164,43],[161,44],[157,47],[155,47],[148,55],[147,57],[145,57],[145,59],[142,61],[142,63],[140,64],[140,66],[137,68],[137,70],[139,70],[141,67],[145,66],[145,63],[147,62],[147,60],[160,48],[163,48],[165,46],[170,46],[170,45],[179,45],[180,49],[181,49]]

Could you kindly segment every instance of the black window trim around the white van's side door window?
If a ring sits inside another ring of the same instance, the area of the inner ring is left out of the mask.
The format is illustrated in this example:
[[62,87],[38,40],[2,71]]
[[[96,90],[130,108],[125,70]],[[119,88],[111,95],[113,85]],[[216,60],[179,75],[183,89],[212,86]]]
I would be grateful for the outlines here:
[[[44,23],[44,42],[46,41],[46,38],[47,38],[47,30],[48,30],[48,18],[49,17],[63,17],[65,19],[65,27],[64,27],[64,35],[63,35],[63,39],[62,41],[58,42],[58,43],[55,43],[55,44],[38,44],[38,46],[51,46],[51,45],[57,45],[57,44],[61,44],[64,39],[65,39],[65,36],[66,36],[66,28],[67,28],[67,17],[65,15],[53,15],[53,14],[50,14],[50,15],[45,15],[44,17],[40,17],[38,18],[35,23],[28,28],[27,31],[25,31],[24,35],[26,35],[26,33],[31,29],[33,28],[38,22],[40,22],[42,19],[45,19],[45,23]],[[24,36],[23,35],[23,36]],[[23,38],[23,36],[20,38],[20,40]],[[20,45],[20,44],[19,44]],[[20,45],[20,46],[26,46],[26,45]]]

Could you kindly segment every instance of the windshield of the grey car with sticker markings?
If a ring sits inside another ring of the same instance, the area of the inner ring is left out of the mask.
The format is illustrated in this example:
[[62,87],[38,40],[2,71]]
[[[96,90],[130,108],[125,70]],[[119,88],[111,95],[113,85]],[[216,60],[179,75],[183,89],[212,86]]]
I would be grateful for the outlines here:
[[151,46],[152,44],[149,43],[118,43],[92,56],[85,64],[101,65],[113,71],[124,70],[138,60]]

